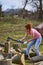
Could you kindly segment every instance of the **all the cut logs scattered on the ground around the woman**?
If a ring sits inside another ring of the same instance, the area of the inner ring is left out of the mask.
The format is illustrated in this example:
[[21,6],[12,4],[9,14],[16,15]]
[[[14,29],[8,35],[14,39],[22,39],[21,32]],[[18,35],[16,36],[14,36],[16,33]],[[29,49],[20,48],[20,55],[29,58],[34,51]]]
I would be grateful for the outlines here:
[[[18,44],[14,44],[13,46],[14,46],[13,47],[14,49],[11,49],[10,42],[7,40],[7,42],[5,43],[5,46],[4,46],[5,52],[3,54],[6,56],[6,58],[3,57],[3,55],[2,55],[2,58],[0,60],[0,65],[12,65],[12,63],[25,65],[26,48],[20,50]],[[31,57],[30,61],[32,63],[43,61],[43,55],[36,56],[35,52],[30,52],[29,55]],[[9,58],[9,56],[11,56],[11,57]]]

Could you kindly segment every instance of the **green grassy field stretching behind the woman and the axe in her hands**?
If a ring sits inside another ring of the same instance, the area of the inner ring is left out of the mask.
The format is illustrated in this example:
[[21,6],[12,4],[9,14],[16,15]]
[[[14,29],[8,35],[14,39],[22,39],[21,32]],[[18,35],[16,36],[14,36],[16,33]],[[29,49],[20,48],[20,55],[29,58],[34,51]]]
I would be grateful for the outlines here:
[[24,35],[24,26],[29,22],[33,23],[33,26],[38,25],[39,21],[33,21],[29,19],[4,17],[0,18],[0,41],[5,41],[4,38],[11,36],[20,38]]

